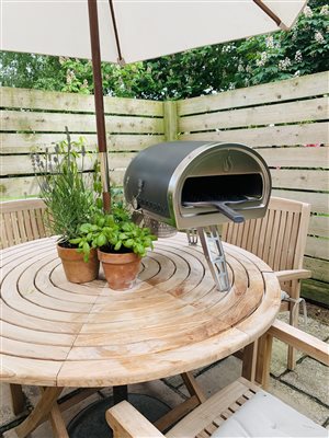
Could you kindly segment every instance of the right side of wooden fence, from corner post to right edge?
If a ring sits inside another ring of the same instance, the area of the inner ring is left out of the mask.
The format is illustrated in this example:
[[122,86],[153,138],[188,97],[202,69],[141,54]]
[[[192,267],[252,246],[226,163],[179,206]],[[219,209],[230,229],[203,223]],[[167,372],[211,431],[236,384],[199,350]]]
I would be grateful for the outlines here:
[[246,143],[268,162],[273,195],[311,205],[304,293],[329,304],[328,71],[178,103],[180,140]]

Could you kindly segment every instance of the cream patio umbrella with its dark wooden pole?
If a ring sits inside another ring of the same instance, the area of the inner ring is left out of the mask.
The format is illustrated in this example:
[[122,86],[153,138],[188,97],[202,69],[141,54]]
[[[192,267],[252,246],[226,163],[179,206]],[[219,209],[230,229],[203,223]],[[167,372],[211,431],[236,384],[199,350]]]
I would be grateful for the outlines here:
[[287,30],[305,4],[305,0],[2,0],[1,49],[92,59],[109,209],[101,60],[134,62]]

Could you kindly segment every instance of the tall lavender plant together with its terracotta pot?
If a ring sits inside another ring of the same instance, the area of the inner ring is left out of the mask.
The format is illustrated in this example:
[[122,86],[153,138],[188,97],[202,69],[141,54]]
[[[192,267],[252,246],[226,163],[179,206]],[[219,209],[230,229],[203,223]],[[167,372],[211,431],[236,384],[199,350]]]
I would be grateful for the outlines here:
[[98,277],[97,250],[83,252],[71,240],[79,235],[80,224],[101,210],[102,201],[97,177],[83,173],[84,161],[91,161],[83,139],[71,141],[67,128],[66,131],[67,139],[57,143],[54,151],[33,153],[32,164],[39,196],[47,207],[46,226],[53,234],[59,235],[57,251],[66,277],[71,283],[87,283]]

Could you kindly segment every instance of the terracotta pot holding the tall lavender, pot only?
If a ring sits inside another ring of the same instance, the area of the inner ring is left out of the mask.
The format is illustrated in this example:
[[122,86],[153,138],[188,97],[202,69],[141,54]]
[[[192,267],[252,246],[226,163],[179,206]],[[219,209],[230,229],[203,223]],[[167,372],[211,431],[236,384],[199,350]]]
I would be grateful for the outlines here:
[[95,250],[91,250],[89,262],[83,262],[83,254],[76,249],[57,245],[66,278],[71,283],[88,283],[98,278],[100,261]]

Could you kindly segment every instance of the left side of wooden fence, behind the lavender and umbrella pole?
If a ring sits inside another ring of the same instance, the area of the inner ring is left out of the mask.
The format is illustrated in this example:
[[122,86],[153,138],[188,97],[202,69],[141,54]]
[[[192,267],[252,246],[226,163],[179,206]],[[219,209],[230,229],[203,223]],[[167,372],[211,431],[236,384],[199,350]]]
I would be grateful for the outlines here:
[[[72,93],[1,89],[2,199],[37,195],[30,153],[43,153],[66,138],[83,137],[97,151],[94,97]],[[139,150],[164,140],[163,103],[137,99],[104,97],[110,177],[122,184],[124,170]],[[86,170],[91,169],[91,162]]]

